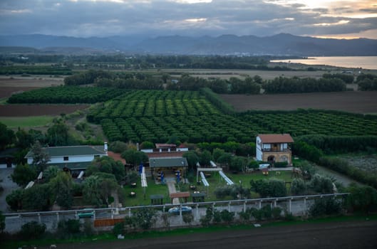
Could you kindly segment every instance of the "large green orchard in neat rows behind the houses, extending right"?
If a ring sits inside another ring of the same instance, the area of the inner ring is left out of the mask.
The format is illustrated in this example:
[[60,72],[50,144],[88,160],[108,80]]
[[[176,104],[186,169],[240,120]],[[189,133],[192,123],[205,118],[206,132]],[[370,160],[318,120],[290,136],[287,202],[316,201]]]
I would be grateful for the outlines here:
[[[142,97],[143,96],[143,97]],[[373,117],[343,112],[297,110],[224,115],[199,92],[138,90],[128,92],[88,114],[110,141],[249,142],[258,133],[376,134]]]

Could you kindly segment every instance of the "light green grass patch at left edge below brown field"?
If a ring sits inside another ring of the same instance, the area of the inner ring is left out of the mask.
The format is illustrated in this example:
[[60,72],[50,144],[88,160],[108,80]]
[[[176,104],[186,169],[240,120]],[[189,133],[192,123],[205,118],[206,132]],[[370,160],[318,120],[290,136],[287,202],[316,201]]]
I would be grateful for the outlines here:
[[43,127],[52,120],[53,116],[0,117],[0,122],[8,128]]

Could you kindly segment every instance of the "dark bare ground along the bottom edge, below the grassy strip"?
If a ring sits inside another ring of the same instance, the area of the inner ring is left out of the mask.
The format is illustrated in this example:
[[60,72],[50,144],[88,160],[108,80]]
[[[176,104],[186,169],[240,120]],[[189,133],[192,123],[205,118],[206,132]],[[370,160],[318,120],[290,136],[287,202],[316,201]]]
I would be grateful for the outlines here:
[[[45,247],[47,248],[47,247]],[[377,221],[305,223],[292,226],[250,228],[244,231],[193,233],[163,238],[74,243],[57,248],[112,249],[241,249],[241,248],[377,248]]]

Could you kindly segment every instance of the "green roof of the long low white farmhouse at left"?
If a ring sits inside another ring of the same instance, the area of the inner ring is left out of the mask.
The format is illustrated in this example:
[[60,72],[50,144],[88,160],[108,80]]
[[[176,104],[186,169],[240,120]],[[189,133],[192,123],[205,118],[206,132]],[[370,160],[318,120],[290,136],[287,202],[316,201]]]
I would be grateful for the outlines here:
[[[50,157],[65,157],[65,156],[83,156],[83,155],[106,155],[103,145],[78,145],[65,147],[43,147],[43,149],[50,155]],[[29,151],[25,158],[33,157],[33,152]]]

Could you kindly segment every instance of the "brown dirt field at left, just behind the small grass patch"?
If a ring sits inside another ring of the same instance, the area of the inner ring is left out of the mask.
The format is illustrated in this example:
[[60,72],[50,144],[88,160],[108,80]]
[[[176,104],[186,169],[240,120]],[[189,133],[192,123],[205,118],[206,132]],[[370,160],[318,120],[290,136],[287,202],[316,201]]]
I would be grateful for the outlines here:
[[60,115],[83,110],[89,105],[0,105],[0,117]]

